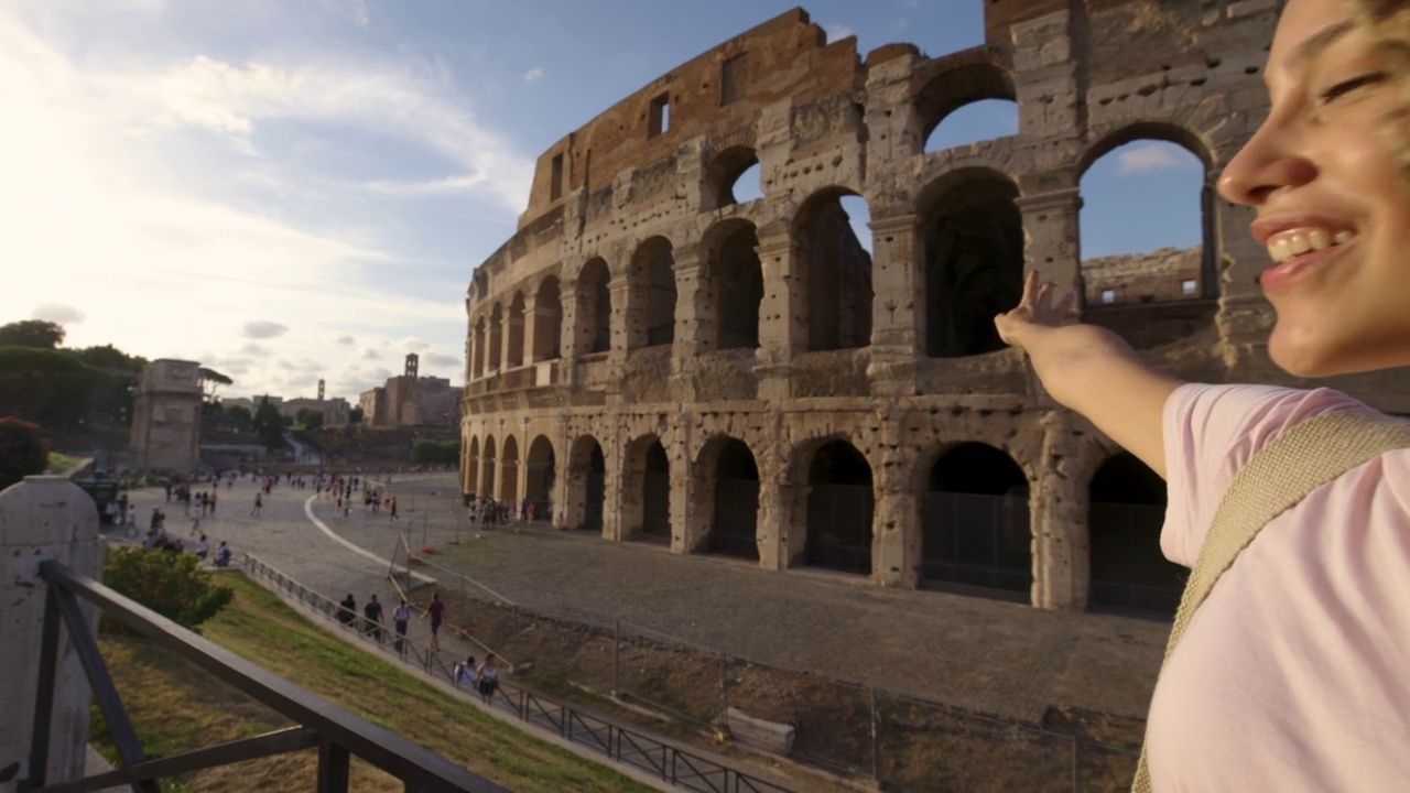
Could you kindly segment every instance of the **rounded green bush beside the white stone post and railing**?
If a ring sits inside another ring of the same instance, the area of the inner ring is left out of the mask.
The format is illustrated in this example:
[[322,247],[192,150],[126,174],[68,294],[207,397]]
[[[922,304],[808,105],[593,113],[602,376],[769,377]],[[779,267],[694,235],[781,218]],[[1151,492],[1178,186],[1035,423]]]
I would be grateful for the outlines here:
[[216,586],[192,553],[141,547],[110,549],[103,562],[103,583],[185,628],[220,614],[235,594],[230,587]]

